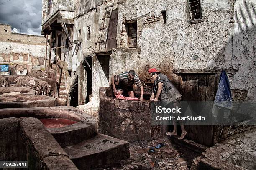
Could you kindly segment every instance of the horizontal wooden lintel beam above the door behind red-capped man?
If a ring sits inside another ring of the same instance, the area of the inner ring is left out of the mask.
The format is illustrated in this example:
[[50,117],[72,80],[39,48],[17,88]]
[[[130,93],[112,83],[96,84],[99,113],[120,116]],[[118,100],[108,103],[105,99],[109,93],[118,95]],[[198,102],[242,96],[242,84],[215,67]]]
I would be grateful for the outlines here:
[[[95,52],[96,53],[96,52]],[[225,70],[227,74],[236,74],[238,72],[236,69],[173,69],[174,74],[217,74],[222,70]]]

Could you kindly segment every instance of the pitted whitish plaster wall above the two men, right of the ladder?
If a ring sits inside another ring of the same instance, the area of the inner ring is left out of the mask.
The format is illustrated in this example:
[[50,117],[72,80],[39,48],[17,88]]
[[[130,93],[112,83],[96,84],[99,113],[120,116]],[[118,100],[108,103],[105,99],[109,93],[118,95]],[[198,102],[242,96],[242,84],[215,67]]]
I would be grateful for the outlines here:
[[[234,0],[202,0],[202,18],[207,20],[188,24],[187,0],[121,0],[118,9],[118,46],[127,47],[127,42],[122,38],[127,37],[125,23],[135,19],[138,27],[137,48],[141,50],[138,71],[142,80],[149,78],[150,67],[158,68],[175,82],[177,76],[172,73],[174,68],[207,69],[233,66],[238,72],[234,78],[230,78],[231,88],[248,90],[248,100],[256,100],[255,81],[251,80],[246,86],[243,85],[244,77],[251,76],[249,80],[256,77],[253,38],[255,19],[252,24],[249,18],[249,13],[255,18],[253,7],[255,9],[256,2],[246,2],[249,6],[248,15],[243,14],[246,12],[245,2],[236,0],[236,3],[237,5]],[[163,23],[161,15],[164,10],[167,14],[166,24]],[[251,29],[243,29],[242,34],[240,32],[235,35],[238,26],[234,15],[238,15],[238,19],[243,18],[239,22],[243,23],[244,28],[250,24]],[[194,55],[198,56],[197,60],[192,60]]]

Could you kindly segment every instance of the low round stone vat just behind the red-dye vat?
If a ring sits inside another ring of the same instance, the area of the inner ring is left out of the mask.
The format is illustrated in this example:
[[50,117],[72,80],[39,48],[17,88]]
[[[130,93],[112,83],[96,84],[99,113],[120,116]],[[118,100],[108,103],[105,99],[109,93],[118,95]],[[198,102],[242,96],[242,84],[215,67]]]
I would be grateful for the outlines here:
[[46,107],[56,106],[54,97],[43,95],[8,95],[0,96],[0,108],[18,108],[18,107]]

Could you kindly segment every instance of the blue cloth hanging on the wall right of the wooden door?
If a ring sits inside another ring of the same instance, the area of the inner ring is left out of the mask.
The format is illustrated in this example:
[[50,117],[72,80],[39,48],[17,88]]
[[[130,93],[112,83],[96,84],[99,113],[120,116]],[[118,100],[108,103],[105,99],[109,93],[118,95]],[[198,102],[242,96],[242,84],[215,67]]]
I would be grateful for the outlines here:
[[216,92],[212,115],[217,117],[220,112],[223,112],[224,118],[228,118],[233,107],[230,83],[226,72],[223,70],[220,74],[219,86]]

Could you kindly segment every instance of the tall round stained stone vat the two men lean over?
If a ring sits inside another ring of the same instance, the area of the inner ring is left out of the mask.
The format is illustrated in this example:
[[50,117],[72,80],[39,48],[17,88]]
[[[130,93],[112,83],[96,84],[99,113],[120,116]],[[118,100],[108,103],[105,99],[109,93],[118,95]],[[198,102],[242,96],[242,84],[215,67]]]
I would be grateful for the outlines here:
[[151,125],[151,101],[113,98],[111,87],[100,87],[99,132],[118,139],[151,141],[163,137],[166,126]]

